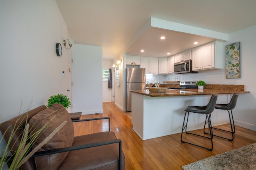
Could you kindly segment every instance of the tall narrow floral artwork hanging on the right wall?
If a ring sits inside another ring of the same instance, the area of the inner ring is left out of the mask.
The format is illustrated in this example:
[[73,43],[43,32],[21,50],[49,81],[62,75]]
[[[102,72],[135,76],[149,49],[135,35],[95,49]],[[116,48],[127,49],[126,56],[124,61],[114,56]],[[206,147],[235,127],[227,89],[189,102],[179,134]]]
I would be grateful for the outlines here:
[[240,42],[226,45],[226,78],[240,78]]

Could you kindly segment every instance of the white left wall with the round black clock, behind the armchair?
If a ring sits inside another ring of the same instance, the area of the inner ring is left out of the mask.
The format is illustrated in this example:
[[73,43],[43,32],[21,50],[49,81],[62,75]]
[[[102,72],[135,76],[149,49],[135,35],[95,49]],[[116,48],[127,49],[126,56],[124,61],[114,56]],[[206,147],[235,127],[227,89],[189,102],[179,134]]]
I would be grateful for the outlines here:
[[[66,23],[54,0],[0,1],[0,122],[41,105],[71,83]],[[56,55],[56,43],[62,56]],[[62,78],[62,72],[65,72]],[[68,78],[70,77],[70,78]]]

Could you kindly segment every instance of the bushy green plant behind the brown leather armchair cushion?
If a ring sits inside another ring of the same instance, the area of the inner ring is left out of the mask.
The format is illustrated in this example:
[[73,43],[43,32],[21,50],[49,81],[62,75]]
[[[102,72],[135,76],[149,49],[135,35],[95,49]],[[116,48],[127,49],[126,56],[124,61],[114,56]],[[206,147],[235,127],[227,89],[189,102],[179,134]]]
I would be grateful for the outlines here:
[[53,96],[50,96],[50,98],[48,99],[47,107],[52,106],[52,104],[54,103],[60,103],[66,109],[71,105],[69,98],[67,96],[64,96],[64,94],[54,94]]

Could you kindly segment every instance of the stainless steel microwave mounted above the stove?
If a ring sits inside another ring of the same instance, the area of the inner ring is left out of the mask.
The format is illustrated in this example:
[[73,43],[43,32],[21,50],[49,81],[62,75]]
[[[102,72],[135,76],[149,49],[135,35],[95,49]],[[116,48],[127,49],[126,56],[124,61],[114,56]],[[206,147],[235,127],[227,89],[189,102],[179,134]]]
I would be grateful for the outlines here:
[[192,71],[191,60],[174,63],[174,74],[191,74],[191,73],[198,73],[197,71]]

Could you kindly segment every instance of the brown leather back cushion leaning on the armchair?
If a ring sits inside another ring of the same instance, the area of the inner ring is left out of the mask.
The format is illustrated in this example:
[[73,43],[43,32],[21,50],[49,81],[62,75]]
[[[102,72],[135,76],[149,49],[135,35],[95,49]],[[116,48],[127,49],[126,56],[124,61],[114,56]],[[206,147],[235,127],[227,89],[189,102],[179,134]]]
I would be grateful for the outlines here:
[[[70,147],[74,141],[74,126],[68,111],[62,104],[53,104],[51,107],[34,115],[30,121],[31,135],[42,127],[46,126],[33,145],[33,149],[48,137],[61,123],[67,121],[66,125],[56,133],[40,150],[52,150],[63,147]],[[35,157],[38,170],[57,169],[68,152]]]

